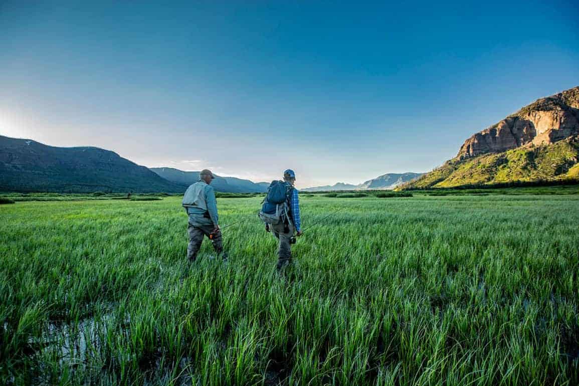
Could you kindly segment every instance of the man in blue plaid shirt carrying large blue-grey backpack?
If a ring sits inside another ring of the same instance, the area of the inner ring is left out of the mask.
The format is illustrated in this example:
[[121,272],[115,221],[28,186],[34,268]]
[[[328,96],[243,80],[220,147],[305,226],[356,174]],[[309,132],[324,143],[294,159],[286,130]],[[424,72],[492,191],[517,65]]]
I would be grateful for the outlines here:
[[294,183],[294,171],[284,171],[284,181],[272,181],[269,185],[259,212],[259,218],[265,222],[265,230],[272,232],[279,240],[278,271],[291,263],[291,244],[294,244],[295,236],[302,235],[298,190],[294,188]]

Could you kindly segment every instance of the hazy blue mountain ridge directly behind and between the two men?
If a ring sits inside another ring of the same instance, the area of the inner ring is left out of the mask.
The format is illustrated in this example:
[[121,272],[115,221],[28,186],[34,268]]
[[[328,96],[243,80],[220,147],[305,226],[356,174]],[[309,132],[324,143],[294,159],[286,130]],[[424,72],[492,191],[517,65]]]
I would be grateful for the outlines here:
[[[180,185],[189,186],[196,181],[199,181],[199,171],[182,171],[170,167],[150,168],[160,177],[178,183]],[[264,185],[265,184],[265,185]],[[251,182],[248,179],[241,179],[235,177],[219,177],[215,175],[215,179],[211,182],[211,186],[217,192],[227,193],[263,193],[267,192],[269,183],[266,182]]]

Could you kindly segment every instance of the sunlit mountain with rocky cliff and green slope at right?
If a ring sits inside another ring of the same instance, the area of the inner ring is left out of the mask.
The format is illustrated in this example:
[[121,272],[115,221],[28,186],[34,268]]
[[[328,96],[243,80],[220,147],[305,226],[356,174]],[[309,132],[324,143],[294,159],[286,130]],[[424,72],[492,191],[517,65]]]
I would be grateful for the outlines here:
[[579,87],[541,98],[468,138],[402,189],[579,179]]

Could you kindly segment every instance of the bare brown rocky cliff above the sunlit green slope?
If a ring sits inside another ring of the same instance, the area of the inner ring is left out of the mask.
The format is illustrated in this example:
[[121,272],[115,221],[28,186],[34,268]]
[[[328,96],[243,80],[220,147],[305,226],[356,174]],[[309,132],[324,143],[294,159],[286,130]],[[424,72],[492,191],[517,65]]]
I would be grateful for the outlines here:
[[541,98],[472,135],[461,146],[457,158],[504,152],[527,144],[552,144],[576,134],[579,134],[579,87]]

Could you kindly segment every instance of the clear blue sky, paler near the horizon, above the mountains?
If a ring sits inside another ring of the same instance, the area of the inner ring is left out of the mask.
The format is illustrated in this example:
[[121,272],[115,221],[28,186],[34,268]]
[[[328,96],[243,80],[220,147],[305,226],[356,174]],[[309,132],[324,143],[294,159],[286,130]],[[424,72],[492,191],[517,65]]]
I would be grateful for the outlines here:
[[0,0],[0,134],[359,183],[579,85],[578,2],[161,3]]

